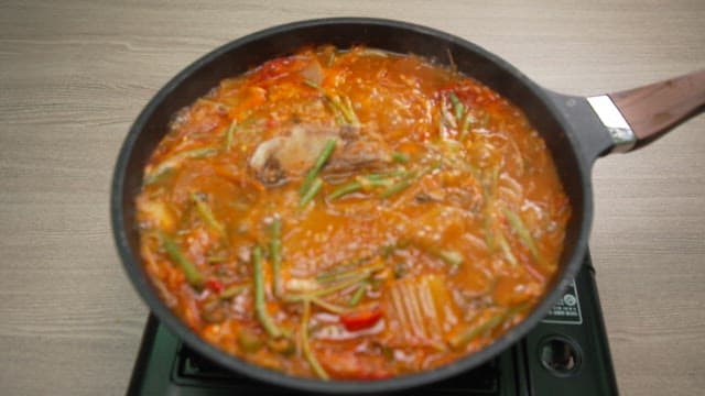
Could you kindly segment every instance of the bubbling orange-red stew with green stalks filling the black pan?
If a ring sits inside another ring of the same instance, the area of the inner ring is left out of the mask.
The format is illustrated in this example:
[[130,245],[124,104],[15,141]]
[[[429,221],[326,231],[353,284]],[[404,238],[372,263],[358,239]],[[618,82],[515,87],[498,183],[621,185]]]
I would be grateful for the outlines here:
[[207,342],[323,380],[482,349],[557,267],[570,202],[497,92],[413,55],[305,48],[178,112],[144,169],[141,255]]

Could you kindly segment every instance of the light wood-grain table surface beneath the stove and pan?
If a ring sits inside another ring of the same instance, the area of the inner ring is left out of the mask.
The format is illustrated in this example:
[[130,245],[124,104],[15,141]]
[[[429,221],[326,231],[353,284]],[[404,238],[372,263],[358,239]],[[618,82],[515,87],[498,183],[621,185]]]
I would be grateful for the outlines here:
[[[124,393],[148,310],[112,243],[112,166],[152,95],[218,45],[366,15],[463,36],[576,95],[705,67],[702,0],[527,3],[2,1],[0,393]],[[590,248],[623,395],[705,388],[704,158],[699,117],[595,166]]]

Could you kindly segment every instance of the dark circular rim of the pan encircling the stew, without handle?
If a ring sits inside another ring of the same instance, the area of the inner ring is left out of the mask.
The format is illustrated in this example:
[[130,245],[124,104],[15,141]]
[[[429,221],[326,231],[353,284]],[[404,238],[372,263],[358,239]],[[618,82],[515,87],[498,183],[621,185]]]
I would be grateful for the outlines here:
[[[562,129],[564,131],[572,130],[567,120],[565,120],[564,116],[561,113],[561,111],[558,111],[555,103],[550,99],[549,91],[534,84],[519,69],[514,68],[497,55],[494,55],[492,53],[464,38],[435,29],[412,24],[409,22],[373,18],[326,18],[281,24],[234,40],[207,53],[206,55],[202,56],[200,58],[185,67],[183,70],[181,70],[169,82],[166,82],[154,95],[154,97],[152,97],[152,99],[150,99],[149,103],[144,107],[144,109],[131,125],[130,131],[128,132],[128,135],[126,136],[120,148],[120,153],[116,163],[110,197],[111,226],[116,248],[121,258],[122,266],[132,280],[132,285],[137,289],[140,297],[147,302],[147,305],[155,314],[159,320],[164,323],[172,332],[174,332],[182,341],[184,341],[197,352],[213,360],[215,363],[231,371],[243,373],[249,377],[267,382],[268,384],[285,386],[300,391],[345,394],[401,391],[438,382],[441,380],[458,375],[487,362],[491,358],[499,354],[501,351],[508,349],[517,341],[522,339],[529,332],[529,330],[535,327],[535,324],[545,316],[545,314],[547,314],[549,309],[551,309],[551,307],[560,298],[565,287],[567,287],[570,279],[576,276],[577,271],[581,267],[582,258],[585,255],[587,249],[587,235],[589,234],[590,222],[593,218],[593,194],[589,179],[590,164],[587,164],[579,155],[579,153],[575,152],[574,154],[576,155],[576,163],[581,177],[579,184],[583,190],[583,206],[582,208],[579,208],[583,213],[583,219],[578,230],[577,242],[572,254],[570,255],[570,260],[563,266],[562,272],[556,273],[555,275],[555,279],[556,282],[560,280],[560,284],[555,284],[553,288],[544,295],[543,300],[536,305],[533,312],[524,318],[524,320],[522,320],[519,324],[514,326],[512,329],[507,331],[500,338],[495,340],[495,342],[487,345],[482,350],[434,370],[398,376],[389,380],[379,380],[373,382],[324,382],[313,378],[295,377],[285,373],[263,369],[248,363],[237,356],[229,355],[226,352],[223,352],[219,349],[208,344],[207,342],[202,340],[195,332],[191,331],[153,292],[149,279],[147,278],[144,272],[141,270],[141,261],[138,258],[138,254],[135,254],[139,252],[132,252],[132,249],[130,248],[130,244],[128,242],[127,229],[133,226],[126,224],[124,222],[124,208],[122,205],[124,195],[124,179],[127,177],[128,162],[130,160],[132,150],[134,148],[135,141],[142,133],[145,123],[161,106],[162,101],[171,92],[173,92],[185,79],[187,79],[196,70],[208,65],[210,62],[245,44],[294,30],[319,28],[326,25],[333,26],[340,24],[380,25],[384,28],[399,29],[401,31],[413,31],[422,35],[430,35],[435,38],[451,42],[468,51],[476,52],[480,56],[490,61],[496,67],[501,68],[502,72],[512,75],[514,78],[525,84],[531,94],[541,99],[542,103],[554,116],[556,122],[562,127]],[[572,147],[579,147],[579,144],[575,141],[573,133],[566,132],[565,136],[570,140],[570,145]]]

